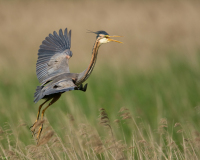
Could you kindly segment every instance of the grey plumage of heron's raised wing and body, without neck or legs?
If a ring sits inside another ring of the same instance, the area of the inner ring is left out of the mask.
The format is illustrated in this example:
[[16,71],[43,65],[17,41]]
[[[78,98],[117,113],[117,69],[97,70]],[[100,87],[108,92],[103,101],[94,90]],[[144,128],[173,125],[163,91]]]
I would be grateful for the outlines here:
[[[49,34],[40,45],[36,74],[42,85],[36,88],[35,103],[51,94],[78,89],[72,79],[66,77],[66,73],[70,72],[67,57],[72,57],[70,47],[71,30],[67,33],[67,28],[64,34],[62,29],[59,30],[59,35],[55,31]],[[57,78],[58,76],[60,79]]]

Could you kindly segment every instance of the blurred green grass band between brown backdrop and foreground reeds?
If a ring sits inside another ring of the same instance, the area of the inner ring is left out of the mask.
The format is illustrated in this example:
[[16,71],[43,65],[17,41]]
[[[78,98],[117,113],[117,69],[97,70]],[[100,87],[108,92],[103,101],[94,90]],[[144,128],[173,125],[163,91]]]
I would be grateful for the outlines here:
[[[170,67],[152,69],[150,72],[115,70],[105,65],[102,70],[91,75],[88,90],[84,92],[71,91],[64,93],[61,99],[46,111],[46,118],[58,135],[64,136],[62,128],[68,114],[72,114],[79,123],[88,122],[98,126],[99,109],[105,108],[111,121],[120,119],[119,110],[126,107],[136,118],[149,126],[156,134],[160,120],[166,118],[169,132],[175,140],[178,139],[175,123],[189,125],[194,130],[199,128],[199,59],[197,65],[190,64],[187,59],[169,56]],[[98,65],[97,65],[98,68]],[[7,71],[0,80],[1,97],[1,127],[10,125],[19,132],[20,140],[28,145],[32,142],[29,126],[34,122],[37,109],[42,100],[33,103],[33,93],[38,85],[37,78],[32,73],[26,76],[21,73],[13,80]],[[124,78],[125,77],[125,78]],[[25,123],[26,127],[19,127]],[[131,143],[132,129],[123,124],[127,143]],[[23,130],[21,130],[23,128]],[[174,133],[173,133],[174,132]],[[100,131],[101,133],[101,131]],[[120,134],[116,132],[120,139]],[[155,136],[156,137],[156,136]],[[181,140],[181,139],[180,139]]]

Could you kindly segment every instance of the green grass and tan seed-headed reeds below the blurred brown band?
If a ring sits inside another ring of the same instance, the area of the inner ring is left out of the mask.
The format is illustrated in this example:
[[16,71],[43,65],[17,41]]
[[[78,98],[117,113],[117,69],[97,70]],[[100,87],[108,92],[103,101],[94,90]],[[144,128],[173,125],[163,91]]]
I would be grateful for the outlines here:
[[41,103],[32,102],[36,77],[9,81],[7,75],[0,80],[0,154],[11,159],[198,159],[198,58],[191,64],[170,56],[169,68],[151,72],[130,74],[111,66],[94,72],[86,93],[67,92],[47,110],[38,145],[29,130]]

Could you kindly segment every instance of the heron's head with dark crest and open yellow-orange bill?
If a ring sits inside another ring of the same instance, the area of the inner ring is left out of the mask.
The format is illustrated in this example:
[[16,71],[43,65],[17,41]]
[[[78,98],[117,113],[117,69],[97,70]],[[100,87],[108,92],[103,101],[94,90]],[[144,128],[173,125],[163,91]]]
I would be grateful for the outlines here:
[[101,44],[103,43],[108,43],[108,42],[118,42],[118,43],[122,43],[120,41],[117,41],[117,40],[114,40],[114,39],[111,39],[111,37],[121,37],[121,36],[110,36],[106,31],[97,31],[97,32],[92,32],[90,31],[91,33],[95,33],[97,35],[96,38],[100,38],[99,39],[99,42]]

